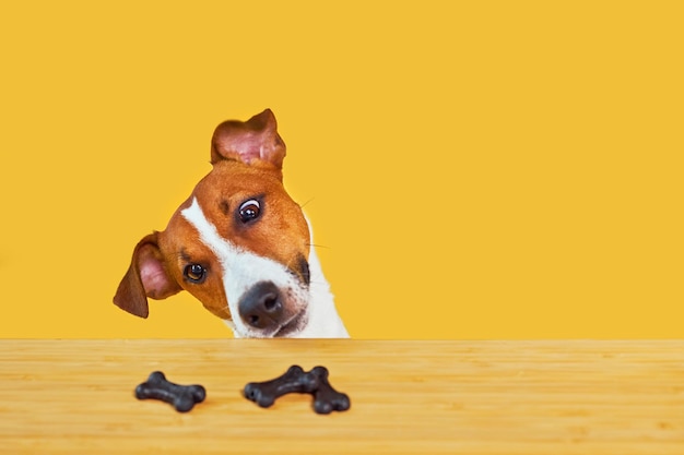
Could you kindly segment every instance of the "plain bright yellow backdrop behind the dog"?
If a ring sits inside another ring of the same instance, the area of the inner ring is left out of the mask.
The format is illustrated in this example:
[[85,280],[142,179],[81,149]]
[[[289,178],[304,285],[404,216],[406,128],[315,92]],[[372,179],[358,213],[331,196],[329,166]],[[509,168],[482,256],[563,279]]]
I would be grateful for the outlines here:
[[3,2],[0,336],[229,336],[111,297],[270,107],[353,336],[683,337],[680,4]]

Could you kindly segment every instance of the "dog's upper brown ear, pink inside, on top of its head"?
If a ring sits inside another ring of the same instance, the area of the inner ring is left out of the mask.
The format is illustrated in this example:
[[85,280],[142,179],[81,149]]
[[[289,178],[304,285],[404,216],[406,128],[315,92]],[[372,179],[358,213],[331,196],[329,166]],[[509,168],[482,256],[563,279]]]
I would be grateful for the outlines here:
[[278,134],[275,116],[271,109],[246,122],[228,120],[216,127],[211,141],[211,163],[237,159],[248,165],[255,160],[283,167],[285,143]]

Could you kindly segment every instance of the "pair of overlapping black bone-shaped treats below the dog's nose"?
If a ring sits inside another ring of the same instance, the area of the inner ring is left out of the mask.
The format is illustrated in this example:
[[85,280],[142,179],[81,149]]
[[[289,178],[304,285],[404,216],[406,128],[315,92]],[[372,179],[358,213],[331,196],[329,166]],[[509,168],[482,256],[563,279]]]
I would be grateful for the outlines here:
[[328,382],[328,369],[315,367],[308,373],[302,367],[292,366],[281,376],[264,382],[250,382],[245,385],[247,399],[268,408],[278,397],[290,393],[310,394],[314,396],[314,410],[317,414],[330,414],[333,410],[347,410],[350,397],[332,388]]

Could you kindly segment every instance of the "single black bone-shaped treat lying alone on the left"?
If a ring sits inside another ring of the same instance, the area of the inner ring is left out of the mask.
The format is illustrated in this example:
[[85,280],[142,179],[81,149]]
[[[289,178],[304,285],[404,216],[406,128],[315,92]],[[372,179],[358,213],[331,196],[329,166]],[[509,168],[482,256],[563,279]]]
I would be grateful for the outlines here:
[[135,387],[138,399],[160,399],[173,405],[178,412],[187,412],[197,403],[202,403],[207,391],[201,385],[179,385],[166,380],[161,371],[150,374],[146,382]]

